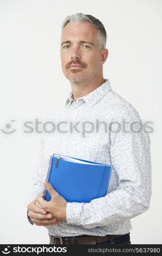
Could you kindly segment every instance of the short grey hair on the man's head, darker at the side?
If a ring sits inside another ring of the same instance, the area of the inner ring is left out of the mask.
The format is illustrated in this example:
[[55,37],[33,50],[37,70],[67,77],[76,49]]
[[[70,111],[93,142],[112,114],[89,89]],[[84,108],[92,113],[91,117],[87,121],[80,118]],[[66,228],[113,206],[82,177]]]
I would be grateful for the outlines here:
[[107,34],[104,28],[104,25],[100,22],[99,19],[89,14],[76,13],[76,14],[67,16],[63,20],[62,31],[64,27],[70,22],[90,22],[94,27],[98,29],[98,40],[99,40],[100,49],[106,48]]

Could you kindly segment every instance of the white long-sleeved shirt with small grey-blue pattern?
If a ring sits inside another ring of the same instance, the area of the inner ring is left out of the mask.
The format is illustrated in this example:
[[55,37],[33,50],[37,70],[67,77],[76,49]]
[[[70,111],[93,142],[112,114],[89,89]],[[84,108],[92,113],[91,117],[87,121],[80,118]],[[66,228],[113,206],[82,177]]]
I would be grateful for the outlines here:
[[67,202],[67,221],[45,226],[52,236],[126,234],[130,219],[149,208],[149,135],[136,109],[104,81],[76,101],[71,92],[66,104],[50,114],[41,136],[27,204],[43,191],[53,154],[113,165],[107,195],[90,203]]

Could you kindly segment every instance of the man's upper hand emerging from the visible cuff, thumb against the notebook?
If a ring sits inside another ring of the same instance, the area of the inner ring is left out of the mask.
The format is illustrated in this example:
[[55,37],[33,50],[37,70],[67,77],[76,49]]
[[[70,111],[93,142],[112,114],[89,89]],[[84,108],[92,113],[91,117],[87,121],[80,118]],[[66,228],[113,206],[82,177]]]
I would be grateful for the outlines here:
[[51,201],[43,199],[42,195],[38,195],[35,204],[41,209],[46,210],[57,221],[66,221],[66,204],[67,201],[53,188],[48,182],[44,182],[44,187],[51,195]]

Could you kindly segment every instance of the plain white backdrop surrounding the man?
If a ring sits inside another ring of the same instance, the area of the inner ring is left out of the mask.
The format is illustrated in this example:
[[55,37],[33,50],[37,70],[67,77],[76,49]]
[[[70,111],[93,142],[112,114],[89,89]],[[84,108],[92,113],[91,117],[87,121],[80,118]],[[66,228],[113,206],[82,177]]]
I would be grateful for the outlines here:
[[0,129],[16,129],[0,131],[1,244],[49,243],[47,229],[27,220],[41,133],[25,133],[24,122],[43,122],[71,91],[61,70],[60,33],[63,19],[78,12],[105,26],[104,78],[112,90],[143,122],[153,122],[151,204],[131,220],[130,233],[132,244],[161,244],[161,7],[160,0],[0,1]]

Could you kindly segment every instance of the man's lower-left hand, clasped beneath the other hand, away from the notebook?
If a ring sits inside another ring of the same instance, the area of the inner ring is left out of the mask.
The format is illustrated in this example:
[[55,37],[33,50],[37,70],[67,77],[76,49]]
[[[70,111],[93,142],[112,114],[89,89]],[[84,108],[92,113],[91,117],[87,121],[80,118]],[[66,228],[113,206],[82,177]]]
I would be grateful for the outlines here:
[[[43,193],[39,193],[37,197],[42,196]],[[36,198],[37,200],[37,198]],[[47,225],[54,225],[57,224],[58,221],[52,217],[51,214],[38,205],[36,205],[36,200],[28,204],[28,216],[30,217],[31,221],[37,226],[47,226]]]

